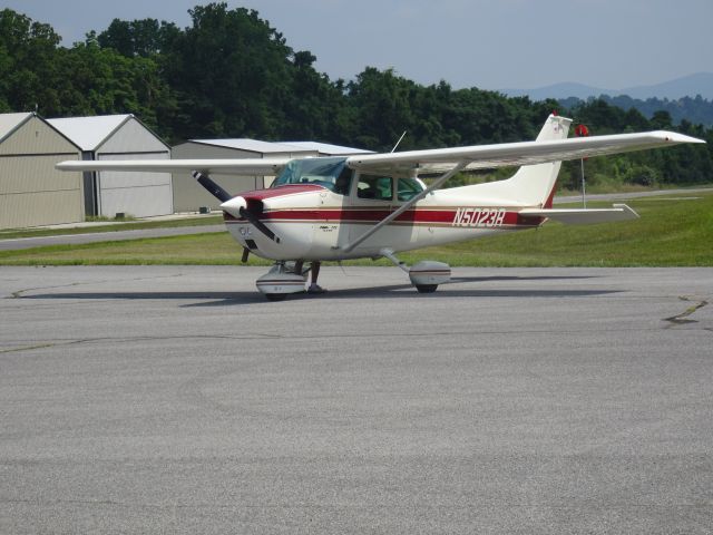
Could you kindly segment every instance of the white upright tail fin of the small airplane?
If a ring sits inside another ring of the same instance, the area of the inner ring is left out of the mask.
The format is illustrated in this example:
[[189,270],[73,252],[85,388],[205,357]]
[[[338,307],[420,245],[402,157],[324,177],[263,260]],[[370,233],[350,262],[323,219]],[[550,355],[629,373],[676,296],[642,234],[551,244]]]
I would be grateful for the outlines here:
[[[538,142],[564,139],[569,132],[572,119],[550,115],[537,136]],[[506,181],[490,182],[470,186],[477,188],[478,195],[492,198],[507,198],[522,206],[550,208],[557,184],[557,175],[561,162],[525,165]],[[468,187],[468,186],[466,186]]]

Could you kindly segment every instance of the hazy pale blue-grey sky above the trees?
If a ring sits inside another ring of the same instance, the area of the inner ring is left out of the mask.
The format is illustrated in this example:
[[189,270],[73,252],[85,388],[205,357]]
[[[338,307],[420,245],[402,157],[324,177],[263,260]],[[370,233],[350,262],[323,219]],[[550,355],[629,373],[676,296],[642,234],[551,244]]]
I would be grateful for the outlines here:
[[[51,25],[64,46],[113,19],[191,26],[203,0],[2,0]],[[713,0],[240,0],[331,79],[367,66],[419,84],[623,89],[713,72]]]

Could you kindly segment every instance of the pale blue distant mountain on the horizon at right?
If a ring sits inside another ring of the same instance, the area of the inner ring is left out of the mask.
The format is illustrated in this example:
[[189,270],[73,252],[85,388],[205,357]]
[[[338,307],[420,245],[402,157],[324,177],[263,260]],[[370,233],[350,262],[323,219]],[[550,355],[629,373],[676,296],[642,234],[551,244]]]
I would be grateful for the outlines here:
[[704,99],[713,100],[713,72],[699,72],[663,84],[628,87],[625,89],[605,89],[585,86],[583,84],[563,82],[537,89],[500,89],[500,93],[510,97],[527,95],[536,101],[547,98],[561,100],[569,97],[586,100],[589,97],[598,97],[599,95],[609,95],[612,97],[628,95],[632,98],[639,99],[667,98],[671,100],[701,95]]

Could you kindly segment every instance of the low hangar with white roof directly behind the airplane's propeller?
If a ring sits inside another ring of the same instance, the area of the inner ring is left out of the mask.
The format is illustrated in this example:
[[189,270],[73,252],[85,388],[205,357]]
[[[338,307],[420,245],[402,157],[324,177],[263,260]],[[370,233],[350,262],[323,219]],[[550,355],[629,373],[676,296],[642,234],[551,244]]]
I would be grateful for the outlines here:
[[[368,150],[341,147],[315,142],[270,143],[257,139],[192,139],[172,149],[174,159],[206,158],[270,158],[307,157],[361,154]],[[272,182],[272,176],[214,176],[225,191],[232,194],[263,188]],[[206,192],[189,173],[174,173],[174,208],[176,212],[196,212],[201,207],[216,210],[221,203]]]

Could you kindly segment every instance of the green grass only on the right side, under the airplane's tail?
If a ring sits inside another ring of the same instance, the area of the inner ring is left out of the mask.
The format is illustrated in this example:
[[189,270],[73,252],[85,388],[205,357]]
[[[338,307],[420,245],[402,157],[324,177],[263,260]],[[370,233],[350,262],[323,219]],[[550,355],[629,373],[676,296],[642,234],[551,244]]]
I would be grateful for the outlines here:
[[[713,195],[701,197],[635,200],[628,204],[641,215],[636,221],[583,226],[548,222],[538,230],[432,247],[428,253],[451,265],[712,266]],[[609,205],[588,203],[588,207]]]

